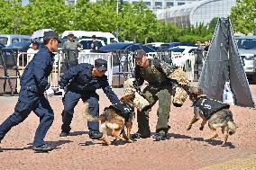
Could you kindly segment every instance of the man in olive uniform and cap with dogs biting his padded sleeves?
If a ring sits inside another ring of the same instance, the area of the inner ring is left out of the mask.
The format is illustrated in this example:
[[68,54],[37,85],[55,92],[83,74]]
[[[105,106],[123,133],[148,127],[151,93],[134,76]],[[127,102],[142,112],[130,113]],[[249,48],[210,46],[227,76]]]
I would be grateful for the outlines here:
[[[160,61],[155,58],[151,63],[144,50],[136,51],[134,68],[135,86],[141,86],[146,80],[149,85],[143,89],[142,94],[151,103],[151,107],[159,100],[158,122],[156,127],[156,140],[167,138],[169,130],[169,111],[171,103],[172,85],[169,78],[161,71]],[[150,138],[149,112],[151,107],[137,113],[138,131],[133,134],[133,139]]]

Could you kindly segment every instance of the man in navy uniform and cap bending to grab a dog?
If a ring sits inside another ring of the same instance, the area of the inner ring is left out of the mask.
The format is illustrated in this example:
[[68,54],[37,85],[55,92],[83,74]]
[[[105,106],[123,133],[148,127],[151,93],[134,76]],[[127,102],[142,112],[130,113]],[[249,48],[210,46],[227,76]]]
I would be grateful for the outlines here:
[[[59,80],[60,89],[67,88],[64,95],[62,112],[62,126],[59,137],[66,137],[71,130],[70,124],[73,118],[74,108],[78,104],[79,99],[85,103],[88,102],[89,114],[99,115],[99,96],[96,94],[96,89],[102,88],[110,102],[123,112],[123,118],[129,117],[130,108],[124,103],[121,103],[114,94],[112,88],[108,84],[105,72],[107,70],[107,62],[105,59],[98,58],[95,60],[95,66],[81,63],[76,67],[71,67]],[[62,91],[62,90],[60,90]],[[102,133],[99,132],[99,123],[96,121],[88,121],[90,139],[102,138]]]

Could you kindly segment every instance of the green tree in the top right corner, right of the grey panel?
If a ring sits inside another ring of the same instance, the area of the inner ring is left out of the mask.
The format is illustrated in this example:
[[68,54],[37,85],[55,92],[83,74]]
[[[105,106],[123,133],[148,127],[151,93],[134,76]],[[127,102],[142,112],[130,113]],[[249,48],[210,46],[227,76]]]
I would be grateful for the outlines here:
[[231,11],[231,22],[234,31],[244,34],[252,33],[256,28],[256,1],[237,0]]

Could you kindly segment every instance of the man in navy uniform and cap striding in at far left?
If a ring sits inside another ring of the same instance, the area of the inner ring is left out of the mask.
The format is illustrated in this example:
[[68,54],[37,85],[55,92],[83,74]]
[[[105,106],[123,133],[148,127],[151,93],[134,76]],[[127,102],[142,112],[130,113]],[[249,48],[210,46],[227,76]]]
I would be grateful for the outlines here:
[[44,142],[44,137],[54,119],[50,103],[44,96],[49,87],[48,76],[53,67],[54,52],[58,51],[59,36],[54,31],[46,31],[43,36],[44,47],[29,62],[21,78],[21,91],[14,113],[0,125],[0,141],[14,126],[23,122],[31,112],[40,118],[35,132],[32,149],[39,152],[52,148]]

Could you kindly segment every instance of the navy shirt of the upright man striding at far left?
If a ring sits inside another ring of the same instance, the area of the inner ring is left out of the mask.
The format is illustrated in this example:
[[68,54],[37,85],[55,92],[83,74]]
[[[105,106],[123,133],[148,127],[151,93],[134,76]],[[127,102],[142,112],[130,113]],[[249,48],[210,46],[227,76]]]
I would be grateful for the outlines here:
[[48,76],[52,71],[54,55],[46,46],[34,55],[21,78],[21,90],[28,90],[33,94],[43,94],[49,87]]

